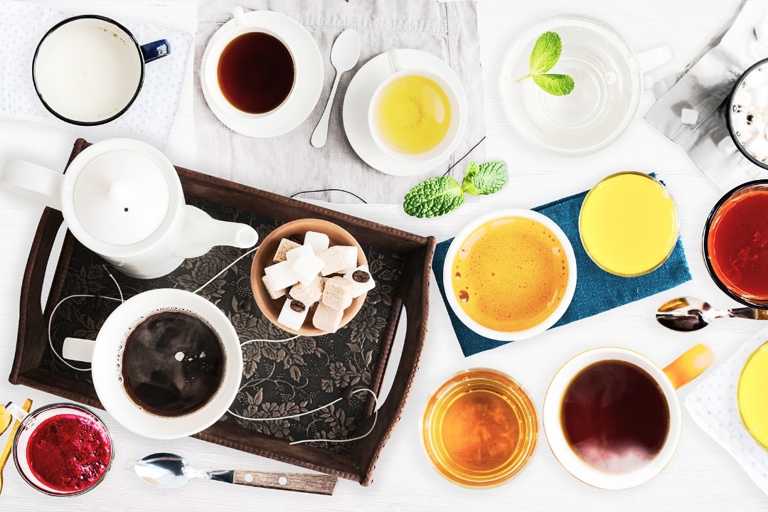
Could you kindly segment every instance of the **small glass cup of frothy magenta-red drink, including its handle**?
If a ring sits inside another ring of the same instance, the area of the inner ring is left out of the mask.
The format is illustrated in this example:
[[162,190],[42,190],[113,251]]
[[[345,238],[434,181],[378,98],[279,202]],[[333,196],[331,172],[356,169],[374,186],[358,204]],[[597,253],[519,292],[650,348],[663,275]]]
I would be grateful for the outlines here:
[[51,496],[74,496],[96,487],[112,463],[107,426],[88,408],[51,404],[27,413],[6,406],[18,421],[13,460],[22,478]]

